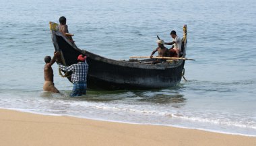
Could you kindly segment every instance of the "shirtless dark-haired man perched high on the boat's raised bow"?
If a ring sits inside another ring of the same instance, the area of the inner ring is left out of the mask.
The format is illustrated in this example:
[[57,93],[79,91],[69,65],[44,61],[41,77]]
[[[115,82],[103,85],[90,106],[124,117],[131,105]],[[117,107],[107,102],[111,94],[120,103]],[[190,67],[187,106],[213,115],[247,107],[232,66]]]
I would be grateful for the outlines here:
[[67,39],[74,43],[75,41],[73,41],[72,38],[72,34],[69,34],[69,30],[67,29],[67,19],[64,16],[59,17],[59,32],[61,32],[64,36],[67,37]]

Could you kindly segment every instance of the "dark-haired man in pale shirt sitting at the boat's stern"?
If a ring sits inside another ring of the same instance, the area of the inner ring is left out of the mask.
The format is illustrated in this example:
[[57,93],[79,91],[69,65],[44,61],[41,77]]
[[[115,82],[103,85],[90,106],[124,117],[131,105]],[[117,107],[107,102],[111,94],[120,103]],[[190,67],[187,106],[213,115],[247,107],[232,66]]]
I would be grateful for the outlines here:
[[181,52],[181,38],[179,38],[175,32],[175,30],[172,30],[170,32],[170,36],[172,37],[172,42],[165,42],[164,44],[172,45],[170,48],[170,57],[179,57],[179,54]]

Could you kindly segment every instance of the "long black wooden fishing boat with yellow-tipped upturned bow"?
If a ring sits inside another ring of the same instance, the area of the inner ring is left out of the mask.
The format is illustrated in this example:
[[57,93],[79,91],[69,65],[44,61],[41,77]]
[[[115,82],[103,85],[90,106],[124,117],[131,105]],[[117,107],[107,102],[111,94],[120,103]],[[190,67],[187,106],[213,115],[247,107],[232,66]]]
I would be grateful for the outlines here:
[[[181,81],[185,60],[168,63],[148,64],[149,59],[139,61],[116,61],[98,54],[81,50],[61,32],[58,24],[50,22],[51,36],[55,50],[61,52],[63,65],[77,63],[77,56],[86,52],[88,88],[90,89],[159,89],[177,85]],[[183,26],[182,57],[186,55],[187,26]],[[65,75],[71,75],[66,73]],[[67,77],[71,81],[71,77]]]

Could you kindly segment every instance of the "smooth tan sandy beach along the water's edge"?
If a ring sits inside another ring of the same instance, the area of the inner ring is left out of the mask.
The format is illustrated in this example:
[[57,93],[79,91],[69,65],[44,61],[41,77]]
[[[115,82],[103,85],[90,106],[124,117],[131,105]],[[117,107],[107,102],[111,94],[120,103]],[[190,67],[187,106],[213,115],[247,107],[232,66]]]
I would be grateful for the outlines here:
[[247,145],[256,137],[0,110],[0,145]]

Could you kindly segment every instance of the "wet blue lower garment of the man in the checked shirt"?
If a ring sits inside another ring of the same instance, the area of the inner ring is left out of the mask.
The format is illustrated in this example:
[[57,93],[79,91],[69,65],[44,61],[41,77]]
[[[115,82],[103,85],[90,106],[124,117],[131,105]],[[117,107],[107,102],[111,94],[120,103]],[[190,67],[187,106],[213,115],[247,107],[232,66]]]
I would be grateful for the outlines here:
[[70,96],[82,96],[82,94],[86,95],[86,88],[86,82],[75,82],[73,83],[73,89]]

